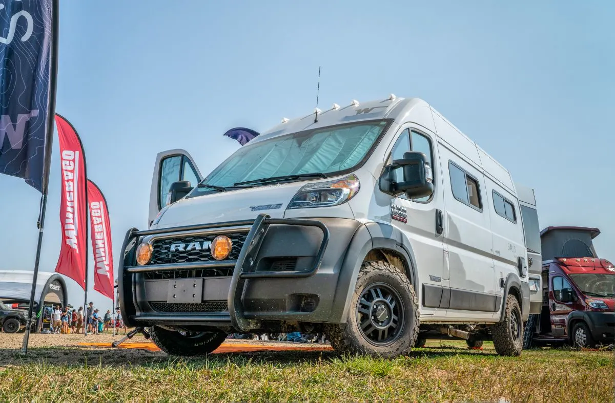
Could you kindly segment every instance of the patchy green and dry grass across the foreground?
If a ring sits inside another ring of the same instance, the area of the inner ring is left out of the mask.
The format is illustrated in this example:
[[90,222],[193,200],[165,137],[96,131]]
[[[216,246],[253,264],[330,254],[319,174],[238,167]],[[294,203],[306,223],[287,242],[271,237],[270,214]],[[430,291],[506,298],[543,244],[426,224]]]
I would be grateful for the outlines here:
[[0,350],[0,401],[613,402],[613,353],[416,349],[377,359],[335,353],[215,354],[178,359],[135,350]]

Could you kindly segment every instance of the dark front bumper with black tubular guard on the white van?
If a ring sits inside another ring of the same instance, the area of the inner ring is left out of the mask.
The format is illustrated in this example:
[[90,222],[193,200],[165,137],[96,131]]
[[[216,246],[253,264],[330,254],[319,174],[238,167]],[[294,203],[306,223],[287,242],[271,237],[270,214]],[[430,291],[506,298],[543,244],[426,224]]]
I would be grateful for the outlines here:
[[[119,273],[122,315],[129,326],[216,327],[238,332],[268,328],[268,321],[338,321],[341,302],[335,303],[336,295],[337,300],[345,300],[347,292],[338,289],[339,272],[360,225],[352,219],[271,219],[260,214],[255,221],[148,231],[132,229],[124,241],[124,264]],[[236,260],[135,265],[134,251],[144,238],[229,229],[247,231]],[[331,237],[331,233],[335,236]],[[295,267],[263,270],[268,268],[268,262],[282,258],[296,259]],[[232,268],[232,276],[202,276],[206,270],[225,267]],[[177,284],[173,283],[175,278],[151,275],[180,270],[196,275],[181,278]],[[173,286],[181,291],[186,286],[196,290],[192,302],[182,305],[169,301]],[[197,311],[189,311],[192,307],[197,307]]]

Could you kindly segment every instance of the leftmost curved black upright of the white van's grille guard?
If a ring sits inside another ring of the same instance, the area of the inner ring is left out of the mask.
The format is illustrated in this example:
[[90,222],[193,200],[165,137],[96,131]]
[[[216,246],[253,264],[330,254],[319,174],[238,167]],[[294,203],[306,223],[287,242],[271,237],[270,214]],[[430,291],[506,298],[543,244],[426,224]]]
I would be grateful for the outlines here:
[[[136,240],[133,235],[138,229],[131,228],[126,232],[124,243],[122,243],[121,259],[117,268],[117,304],[119,305],[122,319],[126,326],[137,327],[138,324],[130,320],[130,317],[137,315],[137,307],[134,303],[134,284],[133,275],[124,272],[125,266],[132,266],[135,259]],[[129,246],[129,243],[131,244]]]

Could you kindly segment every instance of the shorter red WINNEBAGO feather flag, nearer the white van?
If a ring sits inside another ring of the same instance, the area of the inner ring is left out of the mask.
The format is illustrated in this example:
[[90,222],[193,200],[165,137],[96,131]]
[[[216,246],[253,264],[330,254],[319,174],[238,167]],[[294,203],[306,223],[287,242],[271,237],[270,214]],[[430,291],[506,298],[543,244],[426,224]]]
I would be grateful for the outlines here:
[[105,196],[88,179],[87,204],[90,208],[90,239],[94,254],[94,289],[113,299],[113,243]]

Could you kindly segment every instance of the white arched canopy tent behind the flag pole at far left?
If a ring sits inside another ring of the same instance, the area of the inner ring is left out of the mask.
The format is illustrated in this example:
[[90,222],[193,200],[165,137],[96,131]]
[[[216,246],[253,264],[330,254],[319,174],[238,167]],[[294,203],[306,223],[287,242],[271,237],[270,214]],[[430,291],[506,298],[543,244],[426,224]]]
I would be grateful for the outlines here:
[[[30,302],[30,292],[34,273],[22,270],[0,270],[0,300],[10,302]],[[57,303],[65,307],[68,304],[66,283],[57,273],[39,272],[36,279],[34,301],[38,320],[36,330],[41,329],[41,310],[45,303]]]

